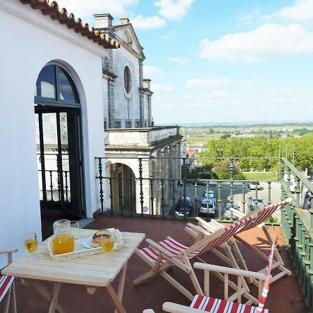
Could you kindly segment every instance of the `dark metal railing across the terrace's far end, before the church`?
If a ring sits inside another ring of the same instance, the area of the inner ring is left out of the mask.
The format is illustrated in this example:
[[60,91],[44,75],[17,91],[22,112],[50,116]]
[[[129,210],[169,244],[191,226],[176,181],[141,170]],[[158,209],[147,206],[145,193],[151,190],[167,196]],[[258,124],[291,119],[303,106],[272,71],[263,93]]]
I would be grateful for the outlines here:
[[[232,208],[248,213],[261,205],[259,202],[270,204],[272,200],[280,200],[278,180],[258,182],[255,190],[251,191],[248,188],[250,180],[232,179],[233,159],[230,159],[230,179],[187,178],[186,164],[189,161],[190,158],[178,157],[96,158],[102,213],[184,219],[201,215],[208,220],[212,217],[234,220]],[[170,162],[172,168],[156,168],[155,163],[163,166],[164,162]],[[107,163],[111,165],[106,166]],[[115,168],[110,170],[112,166]],[[128,175],[125,174],[125,166],[131,168],[126,171]],[[115,177],[116,172],[120,172],[120,176]]]

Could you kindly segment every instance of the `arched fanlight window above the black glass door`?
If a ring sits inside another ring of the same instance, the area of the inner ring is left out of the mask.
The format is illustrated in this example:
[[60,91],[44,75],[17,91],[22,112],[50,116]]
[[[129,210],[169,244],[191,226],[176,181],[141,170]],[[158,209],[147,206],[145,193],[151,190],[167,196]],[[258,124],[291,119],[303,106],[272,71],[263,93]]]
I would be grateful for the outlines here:
[[58,65],[47,65],[39,73],[35,103],[63,104],[77,106],[79,95],[72,77]]

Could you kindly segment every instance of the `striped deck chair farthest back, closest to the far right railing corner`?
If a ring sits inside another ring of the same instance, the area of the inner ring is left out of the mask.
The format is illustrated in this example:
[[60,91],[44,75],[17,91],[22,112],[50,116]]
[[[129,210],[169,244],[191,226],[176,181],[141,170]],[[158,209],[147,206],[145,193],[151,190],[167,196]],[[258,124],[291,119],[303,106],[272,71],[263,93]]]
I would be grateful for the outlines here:
[[[243,256],[241,255],[241,251],[239,250],[238,245],[236,244],[236,240],[240,241],[241,243],[243,243],[244,246],[246,246],[247,248],[249,248],[249,250],[251,250],[252,252],[256,253],[257,255],[259,255],[259,257],[262,257],[263,259],[267,259],[267,255],[260,251],[258,248],[256,248],[255,246],[252,246],[250,243],[248,243],[247,241],[245,241],[244,239],[242,239],[241,237],[237,236],[238,234],[240,234],[241,232],[244,232],[246,230],[250,230],[253,227],[261,227],[266,239],[268,240],[269,246],[271,246],[273,244],[273,240],[271,239],[271,235],[268,232],[268,229],[266,227],[266,225],[264,224],[265,220],[267,220],[268,218],[270,218],[273,213],[280,209],[281,207],[283,207],[284,205],[287,205],[291,202],[291,198],[288,198],[286,200],[283,200],[281,202],[277,202],[265,207],[259,207],[257,208],[257,217],[253,220],[250,221],[250,223],[246,223],[245,225],[243,225],[243,227],[241,227],[238,232],[236,232],[236,234],[234,234],[234,237],[230,238],[227,243],[225,243],[224,246],[222,246],[222,248],[225,249],[225,254],[224,255],[222,252],[218,251],[218,250],[214,250],[213,252],[220,257],[221,259],[223,259],[224,262],[226,262],[227,264],[229,264],[230,266],[233,266],[234,268],[241,268],[243,270],[248,271],[248,268],[246,266],[246,262],[243,259]],[[233,214],[234,216],[238,216],[239,218],[246,218],[247,216],[250,216],[250,214],[245,215],[241,212],[239,212],[238,210],[233,209]],[[216,220],[211,220],[211,222],[206,222],[205,220],[202,220],[201,218],[197,218],[200,230],[204,230],[207,231],[209,233],[211,232],[216,232],[216,230],[220,229],[221,227],[223,227],[223,225],[221,225],[220,223],[218,223]],[[198,234],[197,233],[197,227],[194,227],[194,225],[188,224],[188,227],[186,228],[186,231],[195,236],[195,238],[198,238]],[[203,233],[203,232],[202,232]],[[234,240],[236,239],[236,240]],[[234,259],[236,259],[236,261],[234,261]],[[278,250],[275,250],[275,262],[273,264],[273,268],[277,268],[279,273],[276,274],[275,276],[273,276],[272,282],[275,282],[276,280],[284,277],[284,275],[291,275],[291,271],[289,271],[288,268],[284,267],[284,262],[282,260],[282,257],[280,257],[280,253],[278,252]],[[259,272],[264,272],[266,270],[266,268],[262,268]],[[254,283],[257,285],[257,282],[255,280],[252,280],[251,278],[247,279],[248,282],[250,283]]]

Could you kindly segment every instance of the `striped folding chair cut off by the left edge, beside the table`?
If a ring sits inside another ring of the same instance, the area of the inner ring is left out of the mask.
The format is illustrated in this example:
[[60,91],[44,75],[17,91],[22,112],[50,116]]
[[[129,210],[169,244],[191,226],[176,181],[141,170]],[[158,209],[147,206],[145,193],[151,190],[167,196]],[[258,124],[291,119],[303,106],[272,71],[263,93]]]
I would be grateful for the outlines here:
[[[12,263],[12,253],[17,252],[17,249],[0,250],[0,254],[6,253],[8,255],[8,264]],[[12,294],[13,312],[16,313],[16,297],[15,287],[13,284],[14,277],[9,275],[0,275],[0,302],[6,296],[6,303],[4,305],[4,313],[8,313],[10,306],[10,296]]]

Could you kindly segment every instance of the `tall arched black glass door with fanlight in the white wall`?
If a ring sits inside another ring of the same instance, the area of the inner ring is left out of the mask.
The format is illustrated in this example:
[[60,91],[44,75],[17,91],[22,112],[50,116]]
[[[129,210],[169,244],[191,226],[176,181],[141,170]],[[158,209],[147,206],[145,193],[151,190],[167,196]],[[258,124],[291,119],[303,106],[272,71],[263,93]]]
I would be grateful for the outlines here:
[[70,74],[42,68],[35,86],[35,122],[42,214],[84,215],[81,104]]

